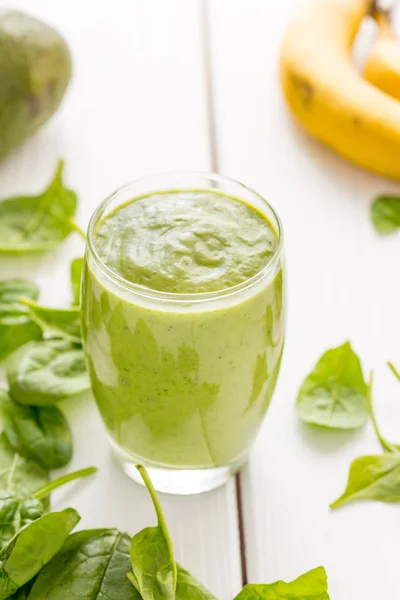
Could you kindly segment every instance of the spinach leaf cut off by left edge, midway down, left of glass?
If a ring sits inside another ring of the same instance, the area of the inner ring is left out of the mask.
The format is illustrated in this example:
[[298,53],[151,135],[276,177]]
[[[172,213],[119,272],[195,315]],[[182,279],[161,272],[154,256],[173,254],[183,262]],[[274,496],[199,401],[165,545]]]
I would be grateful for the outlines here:
[[36,300],[37,286],[24,279],[0,281],[0,360],[19,346],[42,337],[42,331],[19,303],[21,296]]

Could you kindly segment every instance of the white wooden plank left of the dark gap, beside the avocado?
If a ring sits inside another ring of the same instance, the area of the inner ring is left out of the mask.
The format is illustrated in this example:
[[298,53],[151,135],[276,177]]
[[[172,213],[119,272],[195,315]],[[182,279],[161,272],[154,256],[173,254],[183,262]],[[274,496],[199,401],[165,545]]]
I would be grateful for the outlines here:
[[[208,169],[200,10],[197,0],[75,2],[20,0],[64,32],[74,55],[74,78],[57,116],[0,170],[0,197],[34,192],[58,157],[79,192],[79,222],[129,180],[157,171]],[[3,258],[1,277],[34,277],[42,299],[69,301],[68,268],[83,252],[78,238],[44,257]],[[82,527],[117,526],[131,533],[154,523],[149,497],[112,462],[90,399],[67,405],[75,435],[71,469],[100,472],[56,497],[82,514]],[[182,563],[221,600],[241,587],[234,483],[200,497],[163,497]]]

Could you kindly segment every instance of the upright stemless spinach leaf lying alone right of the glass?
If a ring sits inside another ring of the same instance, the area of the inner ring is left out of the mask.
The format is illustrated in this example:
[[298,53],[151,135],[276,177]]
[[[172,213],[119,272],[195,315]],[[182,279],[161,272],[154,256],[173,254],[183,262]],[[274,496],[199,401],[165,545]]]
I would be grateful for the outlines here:
[[297,412],[306,423],[356,429],[368,419],[367,385],[349,342],[328,350],[304,380]]

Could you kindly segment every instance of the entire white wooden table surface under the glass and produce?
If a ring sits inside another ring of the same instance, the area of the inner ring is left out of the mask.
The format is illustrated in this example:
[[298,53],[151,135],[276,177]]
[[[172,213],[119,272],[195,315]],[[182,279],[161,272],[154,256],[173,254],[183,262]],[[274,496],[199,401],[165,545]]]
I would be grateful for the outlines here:
[[[278,84],[283,31],[302,0],[14,0],[66,36],[73,83],[57,116],[0,168],[0,197],[34,192],[58,157],[79,192],[79,221],[121,184],[172,169],[218,170],[254,187],[286,235],[289,322],[282,373],[238,483],[202,496],[163,496],[179,560],[220,600],[250,582],[290,580],[323,564],[332,600],[398,600],[400,507],[331,513],[356,456],[379,452],[371,427],[353,435],[305,430],[294,410],[302,378],[328,347],[350,339],[376,369],[377,414],[400,441],[399,239],[379,239],[369,202],[399,186],[352,167],[295,128]],[[10,2],[7,2],[9,5]],[[366,32],[368,33],[368,32]],[[42,299],[69,299],[68,267],[83,245],[3,258],[0,275],[34,277]],[[94,406],[67,405],[71,468],[99,475],[57,495],[83,527],[131,533],[154,522],[146,492],[113,463]],[[240,499],[240,501],[239,501]]]

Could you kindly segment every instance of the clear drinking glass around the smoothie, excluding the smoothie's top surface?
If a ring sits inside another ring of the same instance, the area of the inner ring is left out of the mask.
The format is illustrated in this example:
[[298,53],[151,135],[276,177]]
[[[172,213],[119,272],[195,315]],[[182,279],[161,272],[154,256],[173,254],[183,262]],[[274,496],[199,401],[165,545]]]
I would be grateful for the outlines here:
[[[213,292],[149,289],[113,272],[95,231],[128,201],[161,191],[222,193],[253,206],[276,233],[270,262]],[[129,183],[94,212],[88,231],[82,330],[93,393],[124,471],[144,465],[158,491],[213,489],[246,460],[278,378],[285,335],[282,225],[250,188],[211,173]]]

